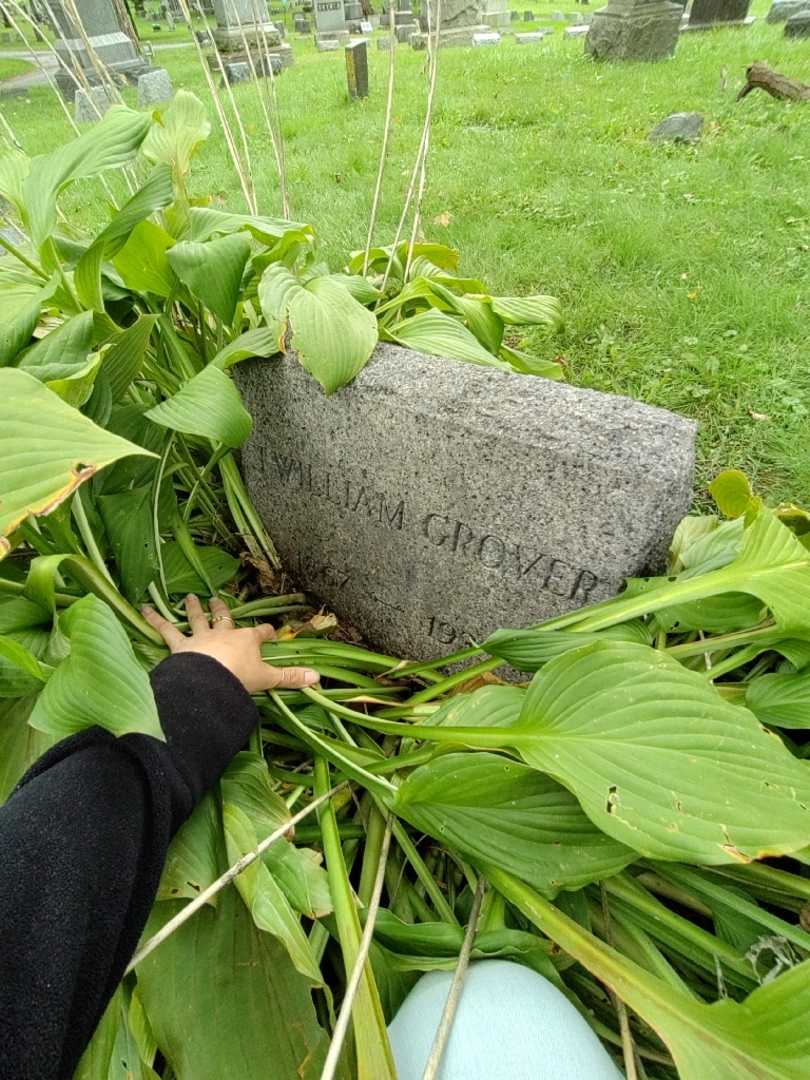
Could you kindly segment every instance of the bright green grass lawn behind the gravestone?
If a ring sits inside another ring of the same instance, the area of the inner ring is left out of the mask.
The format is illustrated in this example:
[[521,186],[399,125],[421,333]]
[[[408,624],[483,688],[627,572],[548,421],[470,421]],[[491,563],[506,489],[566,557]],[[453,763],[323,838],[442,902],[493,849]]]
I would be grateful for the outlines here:
[[[544,19],[556,6],[535,10]],[[686,35],[670,62],[597,65],[558,31],[540,46],[442,52],[424,235],[458,247],[463,270],[494,291],[559,296],[566,327],[542,348],[565,357],[571,382],[697,418],[699,497],[737,465],[769,497],[807,501],[810,105],[735,102],[753,60],[810,82],[807,43],[760,22]],[[296,63],[278,94],[292,213],[316,227],[337,268],[365,242],[388,54],[372,48],[370,97],[349,103],[342,55],[291,40]],[[208,99],[192,50],[160,63]],[[400,46],[396,64],[378,242],[395,228],[424,105],[424,54]],[[278,215],[257,90],[234,93],[260,208]],[[0,107],[31,152],[68,136],[44,90]],[[681,110],[704,113],[701,144],[651,146],[650,129]],[[193,187],[241,208],[213,105],[211,117]],[[67,195],[70,220],[102,219],[96,191]]]

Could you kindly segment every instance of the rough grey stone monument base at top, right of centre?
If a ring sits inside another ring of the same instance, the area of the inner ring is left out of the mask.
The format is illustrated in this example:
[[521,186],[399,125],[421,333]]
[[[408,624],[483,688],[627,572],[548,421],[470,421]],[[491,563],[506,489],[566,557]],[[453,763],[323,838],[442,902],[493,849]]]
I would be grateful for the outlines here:
[[609,0],[594,13],[585,52],[605,60],[664,59],[675,52],[683,13],[666,0]]

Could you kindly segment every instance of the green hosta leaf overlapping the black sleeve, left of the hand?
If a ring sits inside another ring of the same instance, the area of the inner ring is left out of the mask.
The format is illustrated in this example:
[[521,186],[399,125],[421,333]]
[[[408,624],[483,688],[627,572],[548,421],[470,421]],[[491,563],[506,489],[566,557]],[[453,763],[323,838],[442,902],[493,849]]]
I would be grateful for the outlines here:
[[98,725],[112,734],[139,731],[163,740],[149,676],[112,609],[83,596],[59,618],[70,654],[37,699],[30,724],[67,735]]

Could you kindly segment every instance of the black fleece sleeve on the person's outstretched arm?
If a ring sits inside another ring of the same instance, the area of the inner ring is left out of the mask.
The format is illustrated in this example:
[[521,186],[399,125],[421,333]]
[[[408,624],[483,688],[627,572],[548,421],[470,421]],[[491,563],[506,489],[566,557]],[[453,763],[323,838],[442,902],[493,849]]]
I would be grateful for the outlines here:
[[166,742],[93,728],[0,809],[0,1080],[70,1080],[154,900],[166,849],[258,713],[199,653],[152,673]]

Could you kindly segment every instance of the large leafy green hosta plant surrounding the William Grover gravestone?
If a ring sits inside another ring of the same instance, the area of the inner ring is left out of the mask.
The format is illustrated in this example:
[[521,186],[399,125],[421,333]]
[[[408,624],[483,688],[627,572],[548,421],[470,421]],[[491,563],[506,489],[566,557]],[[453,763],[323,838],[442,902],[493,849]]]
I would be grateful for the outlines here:
[[[808,1075],[810,516],[729,472],[724,516],[686,518],[667,572],[615,599],[430,663],[332,634],[279,591],[231,366],[289,339],[332,391],[384,339],[556,375],[512,327],[558,311],[492,297],[440,245],[335,273],[308,226],[200,205],[206,123],[178,94],[159,121],[111,109],[0,161],[29,238],[0,265],[0,796],[77,728],[162,738],[146,598],[183,625],[187,593],[220,595],[278,624],[268,663],[322,676],[257,702],[260,729],[175,838],[147,937],[281,838],[136,960],[78,1076],[320,1076],[370,922],[338,1075],[393,1077],[386,1024],[420,972],[456,966],[482,889],[473,957],[555,982],[629,1074]],[[129,200],[68,234],[62,189],[123,164]]]

